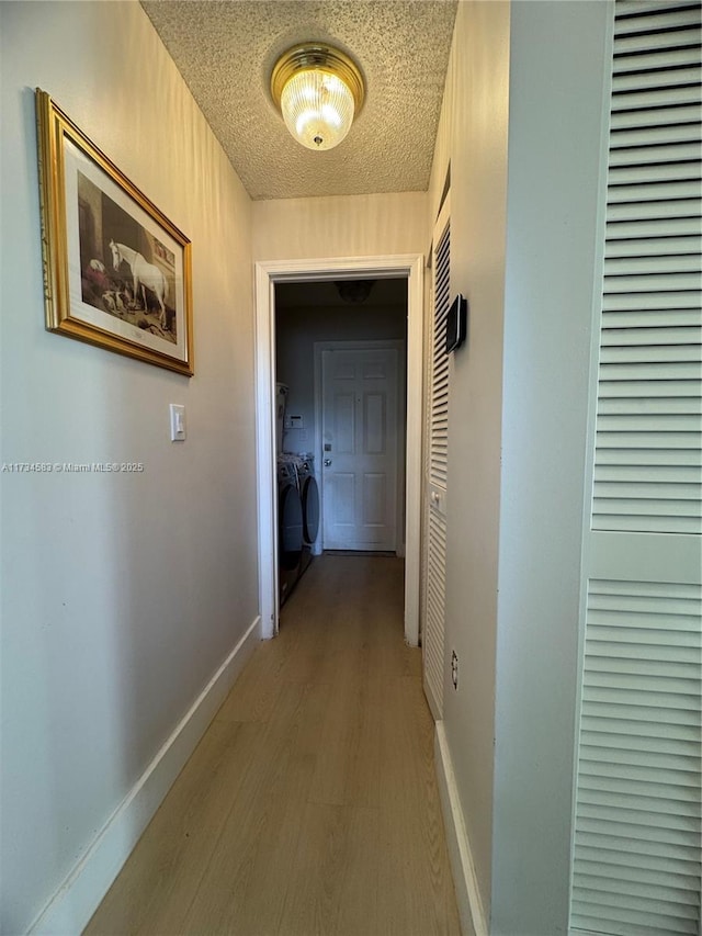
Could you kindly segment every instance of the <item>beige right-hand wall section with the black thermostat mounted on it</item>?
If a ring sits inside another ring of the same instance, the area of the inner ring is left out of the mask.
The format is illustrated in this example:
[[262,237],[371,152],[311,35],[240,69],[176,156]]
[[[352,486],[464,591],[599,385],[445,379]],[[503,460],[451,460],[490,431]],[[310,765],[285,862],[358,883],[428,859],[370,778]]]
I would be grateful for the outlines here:
[[[490,901],[509,4],[458,5],[430,185],[451,162],[451,295],[468,300],[450,363],[444,728],[485,909]],[[450,680],[458,656],[458,688]]]

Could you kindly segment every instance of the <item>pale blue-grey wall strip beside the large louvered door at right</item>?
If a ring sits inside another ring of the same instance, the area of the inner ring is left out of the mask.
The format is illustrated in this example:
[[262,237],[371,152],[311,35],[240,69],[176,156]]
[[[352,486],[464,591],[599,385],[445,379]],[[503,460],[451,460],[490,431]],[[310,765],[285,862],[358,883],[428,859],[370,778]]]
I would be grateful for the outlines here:
[[565,933],[611,3],[511,12],[492,933]]

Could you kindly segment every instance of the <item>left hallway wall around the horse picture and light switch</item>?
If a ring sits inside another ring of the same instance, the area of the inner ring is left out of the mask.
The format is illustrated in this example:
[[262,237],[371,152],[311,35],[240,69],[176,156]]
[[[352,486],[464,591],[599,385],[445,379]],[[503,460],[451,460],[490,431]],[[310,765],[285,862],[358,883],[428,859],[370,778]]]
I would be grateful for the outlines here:
[[[1,476],[0,903],[16,934],[256,620],[258,573],[249,199],[138,3],[1,3],[0,26],[2,461],[145,464]],[[192,239],[194,377],[45,331],[36,86]]]

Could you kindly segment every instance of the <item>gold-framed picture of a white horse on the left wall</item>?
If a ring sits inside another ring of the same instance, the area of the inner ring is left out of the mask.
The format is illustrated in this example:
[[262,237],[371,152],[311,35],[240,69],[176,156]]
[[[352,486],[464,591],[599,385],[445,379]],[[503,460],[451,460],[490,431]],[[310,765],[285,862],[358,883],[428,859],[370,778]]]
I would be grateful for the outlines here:
[[191,244],[36,90],[46,327],[193,373]]

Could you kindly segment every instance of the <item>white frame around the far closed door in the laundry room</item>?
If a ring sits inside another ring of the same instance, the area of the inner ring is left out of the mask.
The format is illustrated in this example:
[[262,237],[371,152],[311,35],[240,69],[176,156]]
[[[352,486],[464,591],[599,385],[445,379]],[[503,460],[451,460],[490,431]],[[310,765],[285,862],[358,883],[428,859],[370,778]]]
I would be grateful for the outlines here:
[[[321,416],[324,410],[324,386],[321,373],[321,356],[324,351],[397,351],[397,460],[395,465],[395,553],[396,555],[405,555],[405,530],[400,537],[400,520],[403,518],[401,492],[405,482],[405,458],[407,455],[407,427],[405,419],[401,418],[400,404],[407,394],[407,342],[404,338],[380,338],[377,340],[355,340],[354,338],[338,339],[335,341],[315,341],[315,458],[319,469],[317,471],[317,480],[319,483],[320,498],[320,534],[319,541],[324,549],[324,501],[325,501],[325,472],[324,472],[324,451],[321,438]],[[405,413],[407,411],[405,407]],[[403,523],[404,527],[404,523]]]

